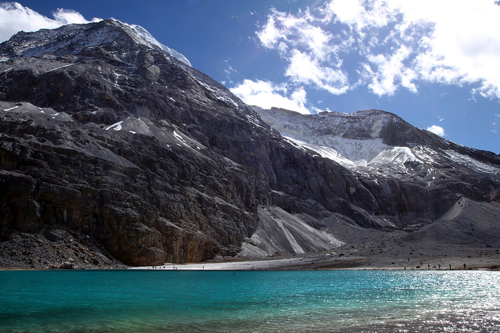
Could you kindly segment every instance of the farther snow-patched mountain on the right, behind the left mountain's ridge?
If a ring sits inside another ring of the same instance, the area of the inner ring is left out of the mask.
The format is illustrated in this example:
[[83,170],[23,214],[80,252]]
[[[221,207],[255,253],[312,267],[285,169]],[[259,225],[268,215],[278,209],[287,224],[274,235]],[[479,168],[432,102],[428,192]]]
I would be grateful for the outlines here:
[[499,200],[499,155],[460,146],[395,114],[365,110],[304,115],[254,109],[290,143],[353,172],[376,198],[376,214],[396,228],[418,230],[461,197]]

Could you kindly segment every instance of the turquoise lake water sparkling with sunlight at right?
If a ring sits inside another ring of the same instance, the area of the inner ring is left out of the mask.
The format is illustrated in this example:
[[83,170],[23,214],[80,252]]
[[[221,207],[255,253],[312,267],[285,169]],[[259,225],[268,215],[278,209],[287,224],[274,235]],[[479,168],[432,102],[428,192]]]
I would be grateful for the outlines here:
[[500,273],[0,271],[0,332],[500,332]]

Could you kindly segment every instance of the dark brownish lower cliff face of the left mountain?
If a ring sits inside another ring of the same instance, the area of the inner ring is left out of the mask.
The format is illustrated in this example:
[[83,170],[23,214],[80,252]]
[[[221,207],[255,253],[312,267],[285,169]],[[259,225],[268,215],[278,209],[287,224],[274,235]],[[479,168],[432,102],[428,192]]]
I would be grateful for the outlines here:
[[[63,225],[98,239],[122,262],[140,265],[235,252],[255,228],[256,199],[240,191],[251,188],[248,171],[174,142],[133,133],[113,137],[115,131],[97,126],[78,128],[69,116],[19,109],[2,118],[2,133],[9,135],[1,142],[5,234]],[[232,219],[238,228],[228,228]]]

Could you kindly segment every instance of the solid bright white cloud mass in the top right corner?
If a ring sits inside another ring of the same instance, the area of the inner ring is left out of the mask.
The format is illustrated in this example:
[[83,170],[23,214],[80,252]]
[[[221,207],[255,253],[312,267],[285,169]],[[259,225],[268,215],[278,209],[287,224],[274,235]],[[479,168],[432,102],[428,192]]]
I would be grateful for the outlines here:
[[[406,21],[433,23],[424,61],[423,78],[444,83],[479,83],[485,97],[500,98],[500,6],[489,0],[390,0]],[[426,58],[426,59],[425,59]],[[431,65],[430,65],[431,64]]]

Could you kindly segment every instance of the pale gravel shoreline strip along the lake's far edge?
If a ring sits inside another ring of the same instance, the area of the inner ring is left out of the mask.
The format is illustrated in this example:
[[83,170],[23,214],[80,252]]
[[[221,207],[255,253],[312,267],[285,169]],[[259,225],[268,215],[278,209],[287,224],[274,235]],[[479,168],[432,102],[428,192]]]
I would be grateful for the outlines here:
[[[451,265],[451,266],[450,266]],[[465,265],[465,266],[464,266]],[[49,267],[0,266],[0,271],[58,270]],[[60,268],[59,268],[60,269]],[[79,267],[88,269],[135,269],[165,271],[297,271],[297,270],[392,270],[392,271],[500,271],[500,253],[491,246],[465,244],[415,244],[365,242],[349,244],[324,253],[266,258],[226,258],[208,262],[158,266]]]

